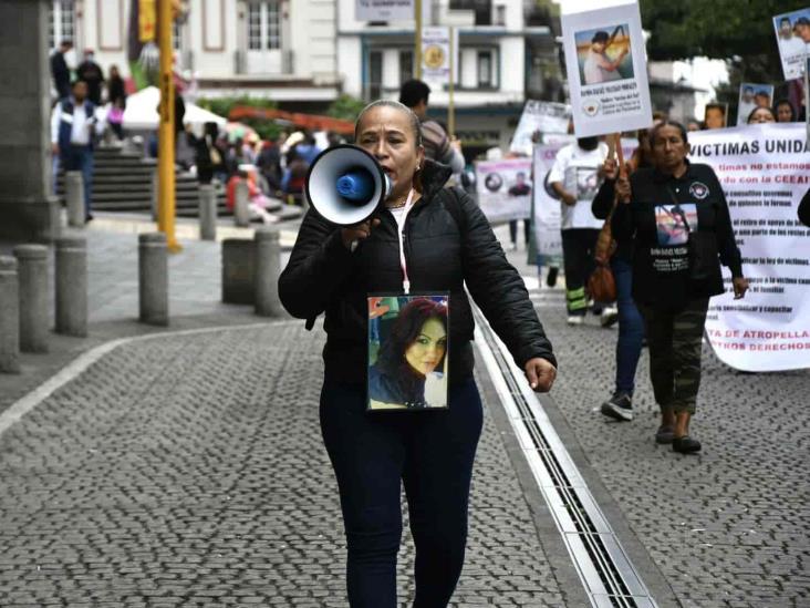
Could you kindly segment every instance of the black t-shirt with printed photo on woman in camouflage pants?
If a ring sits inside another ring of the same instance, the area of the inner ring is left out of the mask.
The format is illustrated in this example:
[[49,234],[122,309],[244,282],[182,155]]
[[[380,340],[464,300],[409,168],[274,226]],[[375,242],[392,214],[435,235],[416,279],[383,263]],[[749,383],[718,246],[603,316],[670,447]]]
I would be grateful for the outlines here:
[[[632,244],[636,301],[677,309],[690,299],[723,293],[720,261],[734,277],[742,276],[728,204],[712,167],[689,163],[678,178],[642,168],[631,176],[631,188],[630,204],[616,207],[612,225],[617,241]],[[716,235],[714,279],[689,277],[688,240],[695,231]]]

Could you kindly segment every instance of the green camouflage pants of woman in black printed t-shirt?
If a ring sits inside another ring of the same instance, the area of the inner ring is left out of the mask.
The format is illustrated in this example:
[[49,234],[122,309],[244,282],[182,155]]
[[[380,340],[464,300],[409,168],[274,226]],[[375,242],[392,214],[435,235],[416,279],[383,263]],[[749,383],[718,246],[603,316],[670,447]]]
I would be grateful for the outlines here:
[[700,388],[700,341],[708,299],[679,311],[641,305],[650,347],[650,379],[662,410],[695,413]]

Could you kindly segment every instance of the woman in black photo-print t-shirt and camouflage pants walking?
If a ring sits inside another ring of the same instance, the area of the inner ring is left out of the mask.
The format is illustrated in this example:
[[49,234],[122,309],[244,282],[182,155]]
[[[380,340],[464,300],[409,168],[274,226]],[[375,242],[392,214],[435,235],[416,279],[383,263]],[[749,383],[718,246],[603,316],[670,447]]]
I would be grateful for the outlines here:
[[686,128],[664,121],[650,134],[654,168],[620,177],[615,239],[633,243],[633,299],[644,318],[650,377],[661,408],[657,443],[698,452],[689,435],[700,385],[700,350],[713,296],[725,291],[720,261],[731,270],[735,298],[748,281],[728,204],[708,165],[687,159]]

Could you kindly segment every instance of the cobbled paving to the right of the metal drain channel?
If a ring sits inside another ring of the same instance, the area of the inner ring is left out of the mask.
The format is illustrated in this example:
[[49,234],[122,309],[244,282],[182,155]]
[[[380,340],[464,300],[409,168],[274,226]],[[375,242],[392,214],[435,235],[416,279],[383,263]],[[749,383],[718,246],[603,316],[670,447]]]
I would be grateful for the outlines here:
[[[503,237],[503,235],[502,235]],[[510,254],[529,275],[525,254]],[[704,347],[693,435],[698,456],[656,445],[644,351],[636,419],[599,413],[613,390],[616,330],[565,324],[561,289],[532,298],[554,344],[561,416],[623,517],[685,607],[810,606],[810,370],[741,374]]]

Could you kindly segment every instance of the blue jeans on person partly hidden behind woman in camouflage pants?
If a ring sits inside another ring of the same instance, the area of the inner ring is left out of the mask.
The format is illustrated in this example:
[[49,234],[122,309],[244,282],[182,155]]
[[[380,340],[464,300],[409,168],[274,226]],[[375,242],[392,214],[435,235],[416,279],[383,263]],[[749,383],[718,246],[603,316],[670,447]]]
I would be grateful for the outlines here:
[[616,281],[616,306],[619,307],[616,391],[633,394],[635,369],[638,367],[644,341],[644,319],[633,301],[633,267],[613,256],[611,268]]

